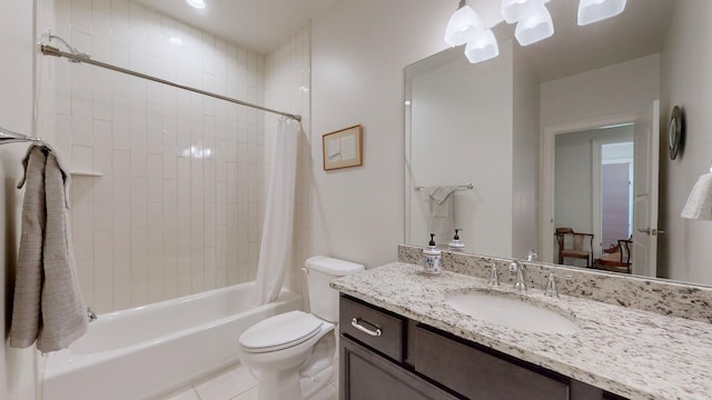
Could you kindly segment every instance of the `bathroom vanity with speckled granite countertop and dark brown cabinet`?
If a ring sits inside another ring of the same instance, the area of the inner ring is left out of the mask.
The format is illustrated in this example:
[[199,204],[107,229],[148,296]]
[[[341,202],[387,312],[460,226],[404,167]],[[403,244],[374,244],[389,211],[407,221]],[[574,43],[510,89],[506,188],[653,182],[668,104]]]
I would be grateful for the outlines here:
[[[503,273],[504,274],[504,273]],[[712,393],[710,323],[530,286],[394,262],[339,278],[340,399],[704,399]],[[576,332],[540,332],[455,310],[487,292],[548,309]]]

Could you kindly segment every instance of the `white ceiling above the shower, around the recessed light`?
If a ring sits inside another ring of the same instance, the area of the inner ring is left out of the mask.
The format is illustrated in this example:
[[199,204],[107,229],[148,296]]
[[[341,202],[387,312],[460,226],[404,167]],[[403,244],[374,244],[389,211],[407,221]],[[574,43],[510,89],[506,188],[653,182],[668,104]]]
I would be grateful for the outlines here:
[[195,9],[185,0],[137,0],[154,10],[267,53],[319,16],[336,0],[205,0]]

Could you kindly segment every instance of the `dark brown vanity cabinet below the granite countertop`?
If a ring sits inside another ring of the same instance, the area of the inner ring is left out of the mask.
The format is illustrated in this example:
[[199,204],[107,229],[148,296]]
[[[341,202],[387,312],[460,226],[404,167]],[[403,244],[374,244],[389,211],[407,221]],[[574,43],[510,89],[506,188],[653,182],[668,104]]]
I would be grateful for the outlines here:
[[599,388],[340,298],[340,400],[602,400]]

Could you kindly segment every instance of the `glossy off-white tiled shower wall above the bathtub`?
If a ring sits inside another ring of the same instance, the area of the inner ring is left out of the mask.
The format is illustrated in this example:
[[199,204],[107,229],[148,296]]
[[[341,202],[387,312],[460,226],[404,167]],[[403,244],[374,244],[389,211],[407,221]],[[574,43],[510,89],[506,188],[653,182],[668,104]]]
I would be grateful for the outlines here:
[[[264,103],[261,54],[127,0],[56,0],[55,8],[53,33],[93,59]],[[293,68],[296,60],[303,58],[286,58]],[[270,150],[265,131],[274,118],[106,69],[53,62],[55,81],[40,84],[56,86],[56,146],[72,171],[101,174],[72,176],[86,302],[106,312],[253,280]],[[270,87],[276,96],[291,92]],[[308,208],[304,202],[300,209]]]

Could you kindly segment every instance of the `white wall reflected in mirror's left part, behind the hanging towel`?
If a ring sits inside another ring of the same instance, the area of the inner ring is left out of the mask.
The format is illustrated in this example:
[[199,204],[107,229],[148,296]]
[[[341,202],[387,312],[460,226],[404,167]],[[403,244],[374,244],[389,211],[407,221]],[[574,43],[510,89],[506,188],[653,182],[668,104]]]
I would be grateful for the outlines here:
[[[454,204],[455,228],[477,253],[512,252],[512,66],[510,41],[496,59],[471,64],[461,57],[411,84],[411,179],[425,187],[474,183],[454,193]],[[413,192],[409,242],[426,244],[428,232],[427,192]]]

